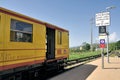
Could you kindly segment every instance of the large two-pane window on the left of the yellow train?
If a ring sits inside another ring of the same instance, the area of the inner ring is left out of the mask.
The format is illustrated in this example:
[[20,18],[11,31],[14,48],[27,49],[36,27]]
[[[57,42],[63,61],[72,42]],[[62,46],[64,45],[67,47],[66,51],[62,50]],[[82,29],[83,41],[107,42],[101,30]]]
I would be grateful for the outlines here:
[[10,41],[32,42],[33,25],[30,23],[11,19]]

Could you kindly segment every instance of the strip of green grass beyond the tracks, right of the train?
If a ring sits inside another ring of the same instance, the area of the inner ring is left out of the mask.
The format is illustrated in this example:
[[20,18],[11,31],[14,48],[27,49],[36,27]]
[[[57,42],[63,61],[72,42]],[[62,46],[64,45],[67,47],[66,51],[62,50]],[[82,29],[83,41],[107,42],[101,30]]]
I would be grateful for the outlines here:
[[99,55],[101,54],[100,51],[94,51],[94,52],[71,52],[69,55],[69,60],[73,59],[78,59],[78,58],[84,58],[84,57],[89,57],[89,56],[94,56],[94,55]]

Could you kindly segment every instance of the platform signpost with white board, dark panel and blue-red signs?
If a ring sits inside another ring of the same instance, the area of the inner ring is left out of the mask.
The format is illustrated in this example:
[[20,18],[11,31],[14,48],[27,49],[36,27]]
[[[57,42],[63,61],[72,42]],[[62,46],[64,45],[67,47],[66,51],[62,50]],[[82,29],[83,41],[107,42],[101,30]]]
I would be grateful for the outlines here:
[[[101,12],[97,13],[96,16],[96,26],[99,27],[99,36],[106,36],[106,26],[110,25],[110,12]],[[100,39],[100,48],[102,56],[102,68],[104,68],[104,48],[105,48],[105,39]],[[108,46],[107,46],[108,50]]]

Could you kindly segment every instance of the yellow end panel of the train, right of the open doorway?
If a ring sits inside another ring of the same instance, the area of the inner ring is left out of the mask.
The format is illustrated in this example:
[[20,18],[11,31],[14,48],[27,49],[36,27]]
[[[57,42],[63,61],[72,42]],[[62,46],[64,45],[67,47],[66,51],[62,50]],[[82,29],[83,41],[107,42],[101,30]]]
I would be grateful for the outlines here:
[[[62,32],[62,44],[58,44],[59,32]],[[56,58],[57,57],[68,57],[69,55],[69,35],[68,32],[56,30]]]

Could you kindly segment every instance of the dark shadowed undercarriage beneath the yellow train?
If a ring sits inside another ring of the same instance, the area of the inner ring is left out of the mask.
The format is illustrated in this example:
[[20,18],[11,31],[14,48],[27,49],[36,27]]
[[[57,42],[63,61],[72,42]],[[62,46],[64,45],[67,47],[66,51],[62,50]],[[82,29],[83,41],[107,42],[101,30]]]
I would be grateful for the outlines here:
[[0,80],[44,80],[46,76],[64,70],[64,60],[46,61],[38,65],[7,70],[1,72]]

